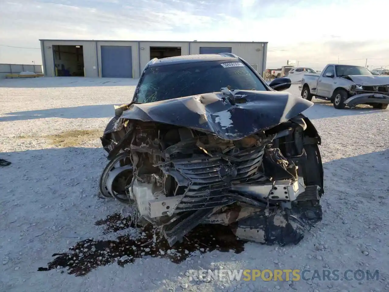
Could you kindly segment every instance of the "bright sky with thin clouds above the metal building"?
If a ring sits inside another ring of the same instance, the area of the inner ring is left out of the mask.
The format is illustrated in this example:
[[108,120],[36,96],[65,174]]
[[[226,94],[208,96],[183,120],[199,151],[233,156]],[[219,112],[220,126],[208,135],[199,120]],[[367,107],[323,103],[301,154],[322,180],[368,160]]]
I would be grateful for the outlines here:
[[0,0],[0,63],[42,63],[38,39],[110,39],[267,41],[268,68],[389,65],[388,11],[388,0]]

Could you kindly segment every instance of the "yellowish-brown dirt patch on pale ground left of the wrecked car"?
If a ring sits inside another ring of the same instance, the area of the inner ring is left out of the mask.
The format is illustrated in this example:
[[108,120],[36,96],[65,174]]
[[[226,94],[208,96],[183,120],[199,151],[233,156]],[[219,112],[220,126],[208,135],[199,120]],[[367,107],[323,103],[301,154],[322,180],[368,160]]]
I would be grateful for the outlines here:
[[49,144],[59,147],[77,146],[84,142],[98,140],[102,136],[102,130],[71,130],[55,135],[20,136],[22,139],[45,139]]

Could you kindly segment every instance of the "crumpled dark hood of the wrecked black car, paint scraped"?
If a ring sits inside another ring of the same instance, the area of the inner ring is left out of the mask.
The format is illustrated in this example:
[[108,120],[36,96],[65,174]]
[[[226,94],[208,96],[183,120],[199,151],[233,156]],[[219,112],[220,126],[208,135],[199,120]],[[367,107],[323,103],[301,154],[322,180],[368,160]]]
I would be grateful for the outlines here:
[[238,140],[285,122],[313,105],[278,91],[232,91],[236,104],[221,92],[205,93],[146,104],[131,104],[120,118],[154,121],[212,132]]

